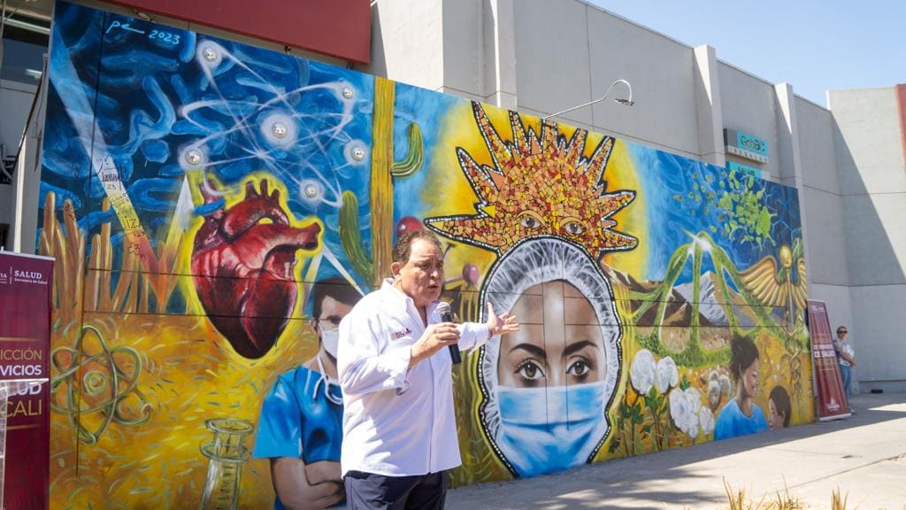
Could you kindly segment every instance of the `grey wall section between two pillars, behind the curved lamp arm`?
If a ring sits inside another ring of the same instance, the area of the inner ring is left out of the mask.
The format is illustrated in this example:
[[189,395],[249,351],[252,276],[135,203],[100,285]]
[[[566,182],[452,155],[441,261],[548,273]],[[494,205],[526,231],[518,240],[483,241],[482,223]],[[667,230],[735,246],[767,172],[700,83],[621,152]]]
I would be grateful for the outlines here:
[[[607,100],[558,118],[699,157],[693,52],[689,46],[581,2],[532,0],[516,5],[518,109],[545,115],[602,97]],[[657,119],[657,122],[652,122]]]

